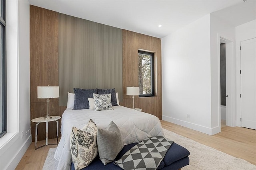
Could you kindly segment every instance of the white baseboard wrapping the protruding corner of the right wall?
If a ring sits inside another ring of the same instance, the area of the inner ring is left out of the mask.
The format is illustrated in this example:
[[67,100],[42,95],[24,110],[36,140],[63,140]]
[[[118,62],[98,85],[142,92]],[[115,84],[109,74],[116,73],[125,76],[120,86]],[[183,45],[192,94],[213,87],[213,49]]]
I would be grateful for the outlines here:
[[168,116],[165,116],[165,115],[162,115],[162,119],[164,121],[168,121],[168,122],[180,125],[180,126],[184,126],[184,127],[189,128],[189,129],[193,129],[193,130],[196,130],[196,131],[199,131],[199,132],[202,132],[202,133],[206,133],[208,135],[214,135],[214,134],[220,132],[220,127],[209,128],[209,127],[205,127],[205,126],[202,126],[202,125],[197,125],[197,124],[194,124],[194,123],[190,123],[190,122],[187,122],[187,121],[174,119],[172,117],[168,117]]

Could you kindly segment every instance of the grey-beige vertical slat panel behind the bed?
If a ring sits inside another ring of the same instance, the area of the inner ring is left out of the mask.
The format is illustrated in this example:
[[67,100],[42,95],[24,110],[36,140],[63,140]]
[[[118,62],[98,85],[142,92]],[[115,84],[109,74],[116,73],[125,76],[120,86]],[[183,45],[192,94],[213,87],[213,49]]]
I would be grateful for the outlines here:
[[115,88],[122,102],[122,29],[60,14],[60,106],[73,88]]

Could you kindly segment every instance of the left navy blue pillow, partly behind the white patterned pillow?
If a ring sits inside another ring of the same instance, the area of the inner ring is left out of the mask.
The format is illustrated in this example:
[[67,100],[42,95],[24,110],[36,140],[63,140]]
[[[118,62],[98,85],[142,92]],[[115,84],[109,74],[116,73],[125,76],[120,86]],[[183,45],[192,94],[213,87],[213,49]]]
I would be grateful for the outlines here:
[[97,94],[97,89],[74,88],[74,93],[74,109],[89,109],[88,98],[93,98],[93,94]]

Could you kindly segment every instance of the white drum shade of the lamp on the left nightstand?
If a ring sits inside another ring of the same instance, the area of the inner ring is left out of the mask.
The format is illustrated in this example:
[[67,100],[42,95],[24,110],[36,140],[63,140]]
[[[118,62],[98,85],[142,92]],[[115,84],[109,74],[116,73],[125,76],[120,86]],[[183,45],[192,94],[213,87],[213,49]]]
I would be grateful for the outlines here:
[[59,87],[58,86],[38,86],[37,87],[37,98],[38,99],[50,99],[59,98]]

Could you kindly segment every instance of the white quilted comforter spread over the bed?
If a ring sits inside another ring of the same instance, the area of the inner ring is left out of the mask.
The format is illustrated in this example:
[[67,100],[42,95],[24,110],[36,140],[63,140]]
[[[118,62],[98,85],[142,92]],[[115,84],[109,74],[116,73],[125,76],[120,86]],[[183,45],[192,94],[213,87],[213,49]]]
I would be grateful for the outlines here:
[[90,119],[101,129],[106,129],[114,121],[120,127],[124,145],[141,142],[148,137],[164,136],[160,120],[156,116],[127,107],[114,106],[113,110],[107,111],[66,109],[62,114],[60,143],[54,154],[54,158],[58,160],[58,170],[70,169],[72,127],[82,128]]

